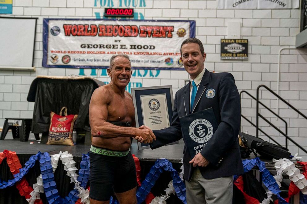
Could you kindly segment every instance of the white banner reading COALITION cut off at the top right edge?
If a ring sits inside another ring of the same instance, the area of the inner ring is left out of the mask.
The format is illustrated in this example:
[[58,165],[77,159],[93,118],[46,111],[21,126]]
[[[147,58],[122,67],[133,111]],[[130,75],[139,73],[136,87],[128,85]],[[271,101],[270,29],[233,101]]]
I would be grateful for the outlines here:
[[299,0],[218,0],[218,9],[296,9]]

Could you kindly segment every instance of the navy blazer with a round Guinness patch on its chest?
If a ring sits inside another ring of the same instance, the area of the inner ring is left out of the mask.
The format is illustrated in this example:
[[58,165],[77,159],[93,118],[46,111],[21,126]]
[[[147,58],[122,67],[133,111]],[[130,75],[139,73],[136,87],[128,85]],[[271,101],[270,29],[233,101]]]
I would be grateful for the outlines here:
[[[191,83],[188,83],[177,91],[171,126],[154,130],[157,140],[151,143],[150,147],[155,149],[183,138],[184,179],[190,181],[195,168],[189,164],[192,158],[181,132],[179,117],[212,107],[218,128],[200,152],[210,161],[207,167],[199,167],[201,174],[206,179],[243,174],[238,142],[241,121],[240,95],[233,76],[231,73],[212,73],[205,70],[197,89],[192,112],[189,107],[190,86]],[[214,97],[206,95],[209,89],[214,90]]]

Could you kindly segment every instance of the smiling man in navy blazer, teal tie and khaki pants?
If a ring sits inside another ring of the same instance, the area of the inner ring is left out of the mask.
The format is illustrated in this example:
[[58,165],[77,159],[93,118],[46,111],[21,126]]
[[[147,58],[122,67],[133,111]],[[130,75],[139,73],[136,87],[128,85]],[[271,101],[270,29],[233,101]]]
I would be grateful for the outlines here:
[[[206,54],[200,40],[184,40],[180,52],[190,83],[177,91],[171,126],[154,130],[157,140],[150,147],[155,149],[183,138],[187,203],[229,204],[232,203],[233,175],[243,173],[238,143],[240,96],[235,80],[230,73],[212,73],[205,69]],[[192,82],[197,86],[193,104],[190,103]],[[218,128],[205,147],[192,158],[181,129],[190,124],[180,124],[179,117],[207,108],[213,109]]]

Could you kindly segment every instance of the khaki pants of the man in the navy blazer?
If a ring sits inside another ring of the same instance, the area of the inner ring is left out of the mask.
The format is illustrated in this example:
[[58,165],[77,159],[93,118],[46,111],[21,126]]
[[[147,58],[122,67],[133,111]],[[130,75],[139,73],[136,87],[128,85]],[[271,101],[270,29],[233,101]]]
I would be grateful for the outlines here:
[[233,176],[205,179],[196,168],[185,185],[187,204],[232,204]]

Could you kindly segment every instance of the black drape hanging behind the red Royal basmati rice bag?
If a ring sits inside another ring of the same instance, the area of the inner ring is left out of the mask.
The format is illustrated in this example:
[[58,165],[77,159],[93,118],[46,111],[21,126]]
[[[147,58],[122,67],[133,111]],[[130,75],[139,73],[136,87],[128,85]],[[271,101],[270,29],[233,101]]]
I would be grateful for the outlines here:
[[32,132],[48,132],[50,112],[59,114],[63,106],[67,107],[67,114],[78,114],[75,128],[90,131],[89,102],[96,86],[93,81],[86,80],[40,79],[35,96]]

